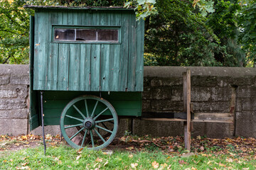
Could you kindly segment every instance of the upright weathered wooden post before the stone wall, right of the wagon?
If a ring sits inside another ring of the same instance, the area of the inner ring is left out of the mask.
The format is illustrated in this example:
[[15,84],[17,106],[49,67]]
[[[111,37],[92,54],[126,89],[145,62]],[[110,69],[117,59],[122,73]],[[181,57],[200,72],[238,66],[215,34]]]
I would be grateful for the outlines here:
[[187,113],[187,120],[184,122],[184,142],[188,151],[191,151],[191,70],[183,72],[183,108]]

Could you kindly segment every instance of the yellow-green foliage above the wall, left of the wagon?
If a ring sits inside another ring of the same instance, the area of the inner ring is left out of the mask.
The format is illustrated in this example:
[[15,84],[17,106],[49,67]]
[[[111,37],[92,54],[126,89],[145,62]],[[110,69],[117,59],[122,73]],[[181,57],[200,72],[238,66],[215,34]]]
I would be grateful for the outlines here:
[[0,63],[28,64],[30,9],[25,1],[0,1]]

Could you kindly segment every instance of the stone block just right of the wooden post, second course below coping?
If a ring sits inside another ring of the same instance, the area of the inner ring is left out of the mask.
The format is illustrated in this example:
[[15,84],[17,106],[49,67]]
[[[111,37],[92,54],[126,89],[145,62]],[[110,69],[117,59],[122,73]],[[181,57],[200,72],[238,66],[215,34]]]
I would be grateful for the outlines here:
[[191,101],[208,101],[210,98],[210,88],[193,86],[191,87]]

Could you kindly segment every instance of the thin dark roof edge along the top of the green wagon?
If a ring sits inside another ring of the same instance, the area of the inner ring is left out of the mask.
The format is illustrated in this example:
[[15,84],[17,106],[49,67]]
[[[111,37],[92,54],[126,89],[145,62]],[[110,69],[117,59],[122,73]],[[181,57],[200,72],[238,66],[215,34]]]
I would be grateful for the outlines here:
[[49,9],[81,9],[81,10],[134,10],[134,8],[124,8],[123,6],[29,6],[24,5],[24,8],[49,8]]

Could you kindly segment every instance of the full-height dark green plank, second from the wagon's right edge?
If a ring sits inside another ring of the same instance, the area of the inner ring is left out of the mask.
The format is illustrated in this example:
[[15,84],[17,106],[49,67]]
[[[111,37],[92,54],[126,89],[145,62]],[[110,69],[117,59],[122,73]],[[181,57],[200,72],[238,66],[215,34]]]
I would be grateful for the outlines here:
[[128,55],[128,80],[127,89],[128,91],[134,91],[135,89],[135,72],[137,65],[137,45],[136,37],[137,33],[135,30],[136,18],[133,13],[129,13],[129,55]]

